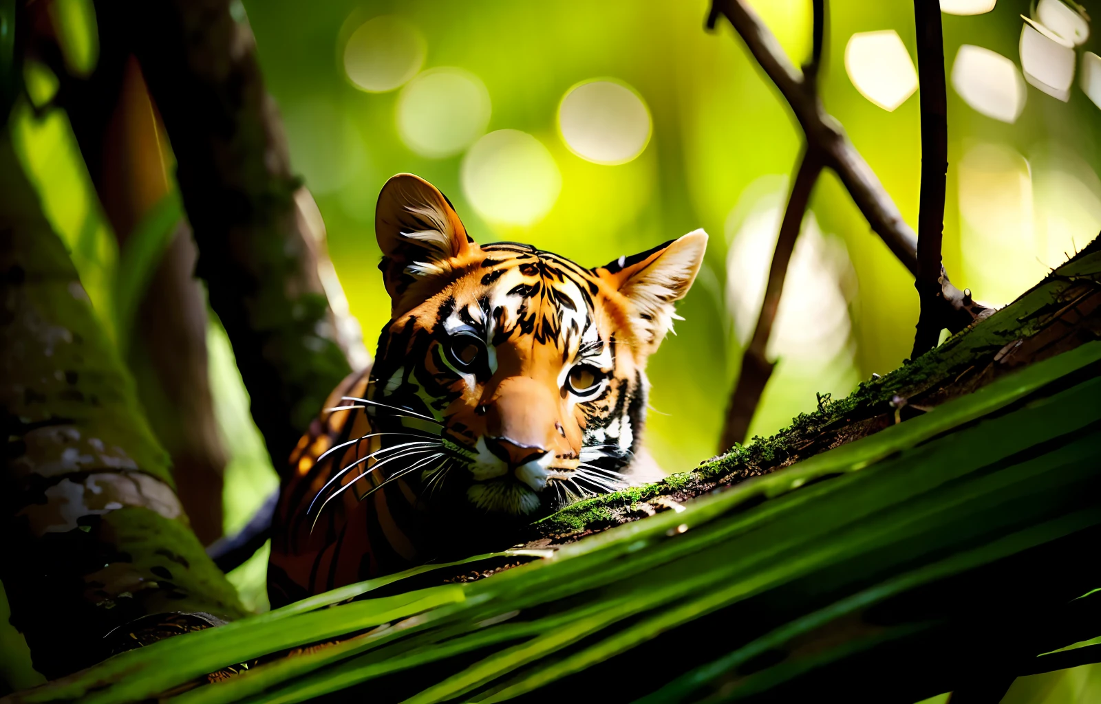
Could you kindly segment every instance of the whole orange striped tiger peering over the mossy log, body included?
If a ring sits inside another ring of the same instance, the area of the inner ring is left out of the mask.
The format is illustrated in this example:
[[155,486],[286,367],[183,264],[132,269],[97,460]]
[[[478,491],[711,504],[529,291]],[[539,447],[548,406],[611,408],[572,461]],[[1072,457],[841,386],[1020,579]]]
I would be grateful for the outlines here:
[[570,502],[661,476],[642,444],[646,360],[679,319],[706,232],[589,270],[476,243],[446,196],[399,174],[375,237],[390,321],[290,458],[272,606],[508,547]]

